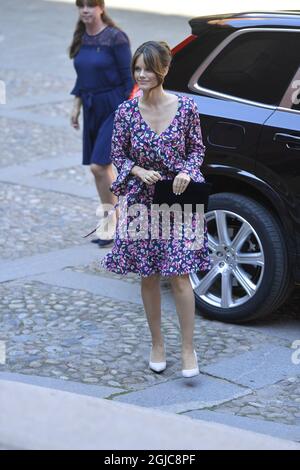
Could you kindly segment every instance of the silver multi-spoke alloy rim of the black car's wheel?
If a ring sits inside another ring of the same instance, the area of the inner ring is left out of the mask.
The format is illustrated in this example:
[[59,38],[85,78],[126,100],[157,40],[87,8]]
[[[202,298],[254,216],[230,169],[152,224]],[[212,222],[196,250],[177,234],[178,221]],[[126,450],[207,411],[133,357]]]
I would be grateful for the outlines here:
[[251,224],[234,212],[210,211],[205,218],[212,269],[190,276],[193,289],[211,306],[241,306],[261,285],[265,270],[262,243]]

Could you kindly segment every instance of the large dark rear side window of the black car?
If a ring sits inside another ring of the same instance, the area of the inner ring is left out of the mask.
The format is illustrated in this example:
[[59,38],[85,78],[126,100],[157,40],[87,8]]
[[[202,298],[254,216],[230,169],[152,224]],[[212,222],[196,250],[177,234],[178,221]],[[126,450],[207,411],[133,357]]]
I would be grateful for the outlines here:
[[300,33],[241,34],[204,70],[198,85],[238,98],[278,105],[300,65],[299,50]]

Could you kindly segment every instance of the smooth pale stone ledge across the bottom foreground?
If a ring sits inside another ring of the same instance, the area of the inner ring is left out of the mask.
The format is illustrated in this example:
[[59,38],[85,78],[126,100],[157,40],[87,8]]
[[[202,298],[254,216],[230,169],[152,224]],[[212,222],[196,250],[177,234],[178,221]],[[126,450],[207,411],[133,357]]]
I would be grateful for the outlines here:
[[291,441],[159,410],[22,383],[3,381],[1,385],[0,445],[4,448],[300,449]]

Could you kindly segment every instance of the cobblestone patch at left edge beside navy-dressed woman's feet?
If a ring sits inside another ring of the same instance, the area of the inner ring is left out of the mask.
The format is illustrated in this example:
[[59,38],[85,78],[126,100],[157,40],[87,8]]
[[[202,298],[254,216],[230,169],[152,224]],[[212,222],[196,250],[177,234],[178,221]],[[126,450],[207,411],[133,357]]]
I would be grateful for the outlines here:
[[86,243],[95,223],[93,202],[19,185],[0,183],[2,259],[17,259]]

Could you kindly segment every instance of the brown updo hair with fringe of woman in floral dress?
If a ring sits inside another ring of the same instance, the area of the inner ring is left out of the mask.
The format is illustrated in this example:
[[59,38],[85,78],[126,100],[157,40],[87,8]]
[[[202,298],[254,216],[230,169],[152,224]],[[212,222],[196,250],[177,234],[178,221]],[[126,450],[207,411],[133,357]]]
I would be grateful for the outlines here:
[[138,47],[133,55],[131,64],[133,78],[136,61],[141,55],[143,56],[147,69],[155,73],[158,81],[157,86],[162,85],[166,69],[170,67],[172,62],[172,52],[168,44],[164,41],[147,41]]

